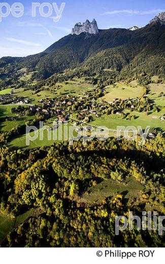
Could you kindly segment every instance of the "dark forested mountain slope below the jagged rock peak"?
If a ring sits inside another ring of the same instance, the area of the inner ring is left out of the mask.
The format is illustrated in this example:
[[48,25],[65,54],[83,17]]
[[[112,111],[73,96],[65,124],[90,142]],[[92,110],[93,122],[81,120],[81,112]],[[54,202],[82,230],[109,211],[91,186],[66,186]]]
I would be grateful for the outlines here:
[[[148,69],[152,68],[150,72],[154,74],[163,74],[164,68],[160,64],[164,59],[164,40],[165,24],[155,19],[154,23],[149,23],[138,30],[110,28],[98,29],[98,34],[88,32],[82,32],[79,35],[70,34],[39,54],[25,58],[3,57],[0,59],[0,67],[10,65],[11,71],[27,68],[28,71],[37,72],[34,78],[46,79],[66,69],[82,68],[83,65],[84,69],[87,69],[86,61],[89,59],[91,62],[90,58],[94,56],[96,56],[97,63],[92,62],[95,66],[94,68],[89,67],[91,71],[95,72],[105,67],[118,73],[124,71],[124,67],[134,72],[133,67],[137,69],[135,61],[139,64],[139,69],[144,71],[141,67],[144,63],[140,60],[146,61],[147,58],[146,64],[148,65],[154,57],[155,67],[149,66]],[[100,52],[103,52],[102,58]],[[101,65],[99,65],[98,57]],[[161,60],[160,57],[162,57]]]

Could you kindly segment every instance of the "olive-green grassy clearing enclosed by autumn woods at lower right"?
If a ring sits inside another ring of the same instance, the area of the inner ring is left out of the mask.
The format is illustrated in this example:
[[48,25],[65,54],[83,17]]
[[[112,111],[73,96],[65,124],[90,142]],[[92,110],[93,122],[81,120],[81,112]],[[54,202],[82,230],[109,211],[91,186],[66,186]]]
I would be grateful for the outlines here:
[[[106,198],[113,199],[117,194],[121,194],[123,197],[123,203],[130,206],[142,206],[145,211],[164,211],[163,201],[160,200],[155,193],[150,193],[147,202],[141,202],[140,199],[142,192],[148,193],[148,189],[145,188],[140,182],[138,182],[133,176],[126,180],[126,184],[118,183],[112,179],[103,180],[96,186],[89,188],[82,194],[78,202],[86,204],[101,204]],[[150,203],[148,203],[150,201]]]

